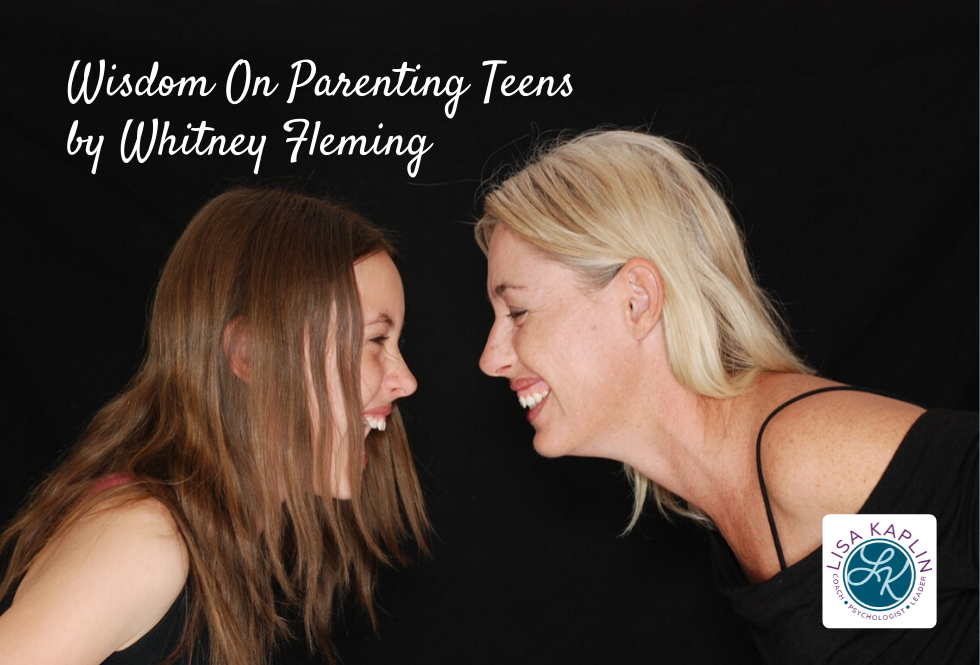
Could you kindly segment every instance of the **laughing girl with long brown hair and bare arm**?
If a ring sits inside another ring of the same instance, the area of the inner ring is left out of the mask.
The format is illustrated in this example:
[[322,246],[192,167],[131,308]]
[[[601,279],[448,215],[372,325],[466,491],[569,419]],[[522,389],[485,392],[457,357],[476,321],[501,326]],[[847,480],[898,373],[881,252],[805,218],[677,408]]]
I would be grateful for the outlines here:
[[[236,189],[163,270],[146,359],[4,534],[0,663],[268,662],[427,528],[380,231]],[[275,590],[277,589],[277,590]],[[291,609],[289,609],[291,608]]]

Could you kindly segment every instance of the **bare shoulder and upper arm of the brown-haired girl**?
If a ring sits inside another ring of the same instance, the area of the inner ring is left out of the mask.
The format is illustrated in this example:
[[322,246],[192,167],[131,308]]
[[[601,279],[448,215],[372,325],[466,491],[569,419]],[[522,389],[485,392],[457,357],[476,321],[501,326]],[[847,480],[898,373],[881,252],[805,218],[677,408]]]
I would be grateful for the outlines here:
[[160,501],[102,502],[24,576],[0,616],[0,663],[101,662],[166,614],[187,574],[187,549]]

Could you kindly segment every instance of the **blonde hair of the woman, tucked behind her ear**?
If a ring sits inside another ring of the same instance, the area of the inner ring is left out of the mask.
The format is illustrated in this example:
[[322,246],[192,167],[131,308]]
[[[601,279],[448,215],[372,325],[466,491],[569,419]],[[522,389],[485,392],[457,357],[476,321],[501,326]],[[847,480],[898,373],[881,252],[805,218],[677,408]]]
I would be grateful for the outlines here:
[[[739,229],[696,160],[661,137],[593,131],[543,146],[484,201],[476,238],[486,253],[497,224],[575,267],[588,287],[607,284],[633,257],[663,279],[671,370],[689,390],[724,398],[761,372],[811,370],[749,268]],[[697,507],[626,467],[632,528],[652,490],[658,509],[710,524]]]

